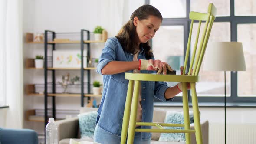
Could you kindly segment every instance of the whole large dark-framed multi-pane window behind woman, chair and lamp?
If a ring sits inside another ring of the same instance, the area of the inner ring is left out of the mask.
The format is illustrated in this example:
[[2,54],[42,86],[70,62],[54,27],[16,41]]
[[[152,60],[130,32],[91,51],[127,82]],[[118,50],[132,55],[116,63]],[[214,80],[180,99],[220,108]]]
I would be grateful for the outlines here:
[[[227,102],[256,102],[255,0],[177,0],[175,2],[146,0],[146,3],[158,8],[163,14],[162,26],[152,39],[154,56],[168,62],[171,66],[174,65],[174,69],[177,69],[178,65],[183,65],[191,23],[189,12],[207,13],[208,4],[213,3],[217,8],[217,17],[213,23],[209,42],[242,42],[246,61],[247,71],[226,72]],[[176,7],[179,10],[173,11]],[[198,22],[195,21],[194,33],[197,31],[197,25]],[[201,28],[203,29],[203,23]],[[192,34],[190,52],[193,50],[193,36],[195,34]],[[168,85],[174,85],[174,83],[168,83]],[[224,72],[203,71],[202,63],[200,82],[196,86],[199,102],[223,102]],[[175,101],[181,101],[181,98]]]

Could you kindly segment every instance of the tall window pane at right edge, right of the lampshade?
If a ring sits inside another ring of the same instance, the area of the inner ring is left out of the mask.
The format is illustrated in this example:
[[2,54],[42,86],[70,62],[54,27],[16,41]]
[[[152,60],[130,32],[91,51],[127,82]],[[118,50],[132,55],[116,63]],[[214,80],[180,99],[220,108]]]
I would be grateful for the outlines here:
[[238,24],[237,40],[243,43],[246,71],[238,72],[238,96],[256,96],[256,24]]

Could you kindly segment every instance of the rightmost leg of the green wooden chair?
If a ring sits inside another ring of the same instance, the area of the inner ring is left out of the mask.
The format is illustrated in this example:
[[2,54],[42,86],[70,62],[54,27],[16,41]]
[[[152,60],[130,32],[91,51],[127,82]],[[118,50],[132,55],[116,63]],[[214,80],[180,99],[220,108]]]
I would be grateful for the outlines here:
[[196,140],[197,140],[197,144],[203,144],[200,114],[199,114],[198,101],[197,101],[196,84],[190,83],[190,86],[191,86],[191,92],[192,92],[192,106],[193,106],[194,124],[195,124],[195,131],[196,131]]

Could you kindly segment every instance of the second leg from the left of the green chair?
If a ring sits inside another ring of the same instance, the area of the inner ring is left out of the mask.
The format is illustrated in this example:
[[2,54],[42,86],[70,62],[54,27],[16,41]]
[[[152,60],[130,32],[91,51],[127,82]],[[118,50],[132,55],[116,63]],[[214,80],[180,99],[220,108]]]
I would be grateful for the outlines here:
[[131,116],[129,121],[127,144],[133,144],[133,141],[134,141],[137,106],[138,106],[138,95],[139,95],[139,83],[140,83],[139,81],[135,81],[135,85],[134,85],[134,92],[133,92],[132,101],[131,101]]

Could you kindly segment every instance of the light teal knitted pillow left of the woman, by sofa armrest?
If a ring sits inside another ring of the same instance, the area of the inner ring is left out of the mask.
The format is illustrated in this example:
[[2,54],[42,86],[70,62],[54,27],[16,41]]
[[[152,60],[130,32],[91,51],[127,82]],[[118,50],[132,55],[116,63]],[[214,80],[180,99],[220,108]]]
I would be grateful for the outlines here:
[[97,111],[90,111],[78,115],[81,138],[93,138]]

